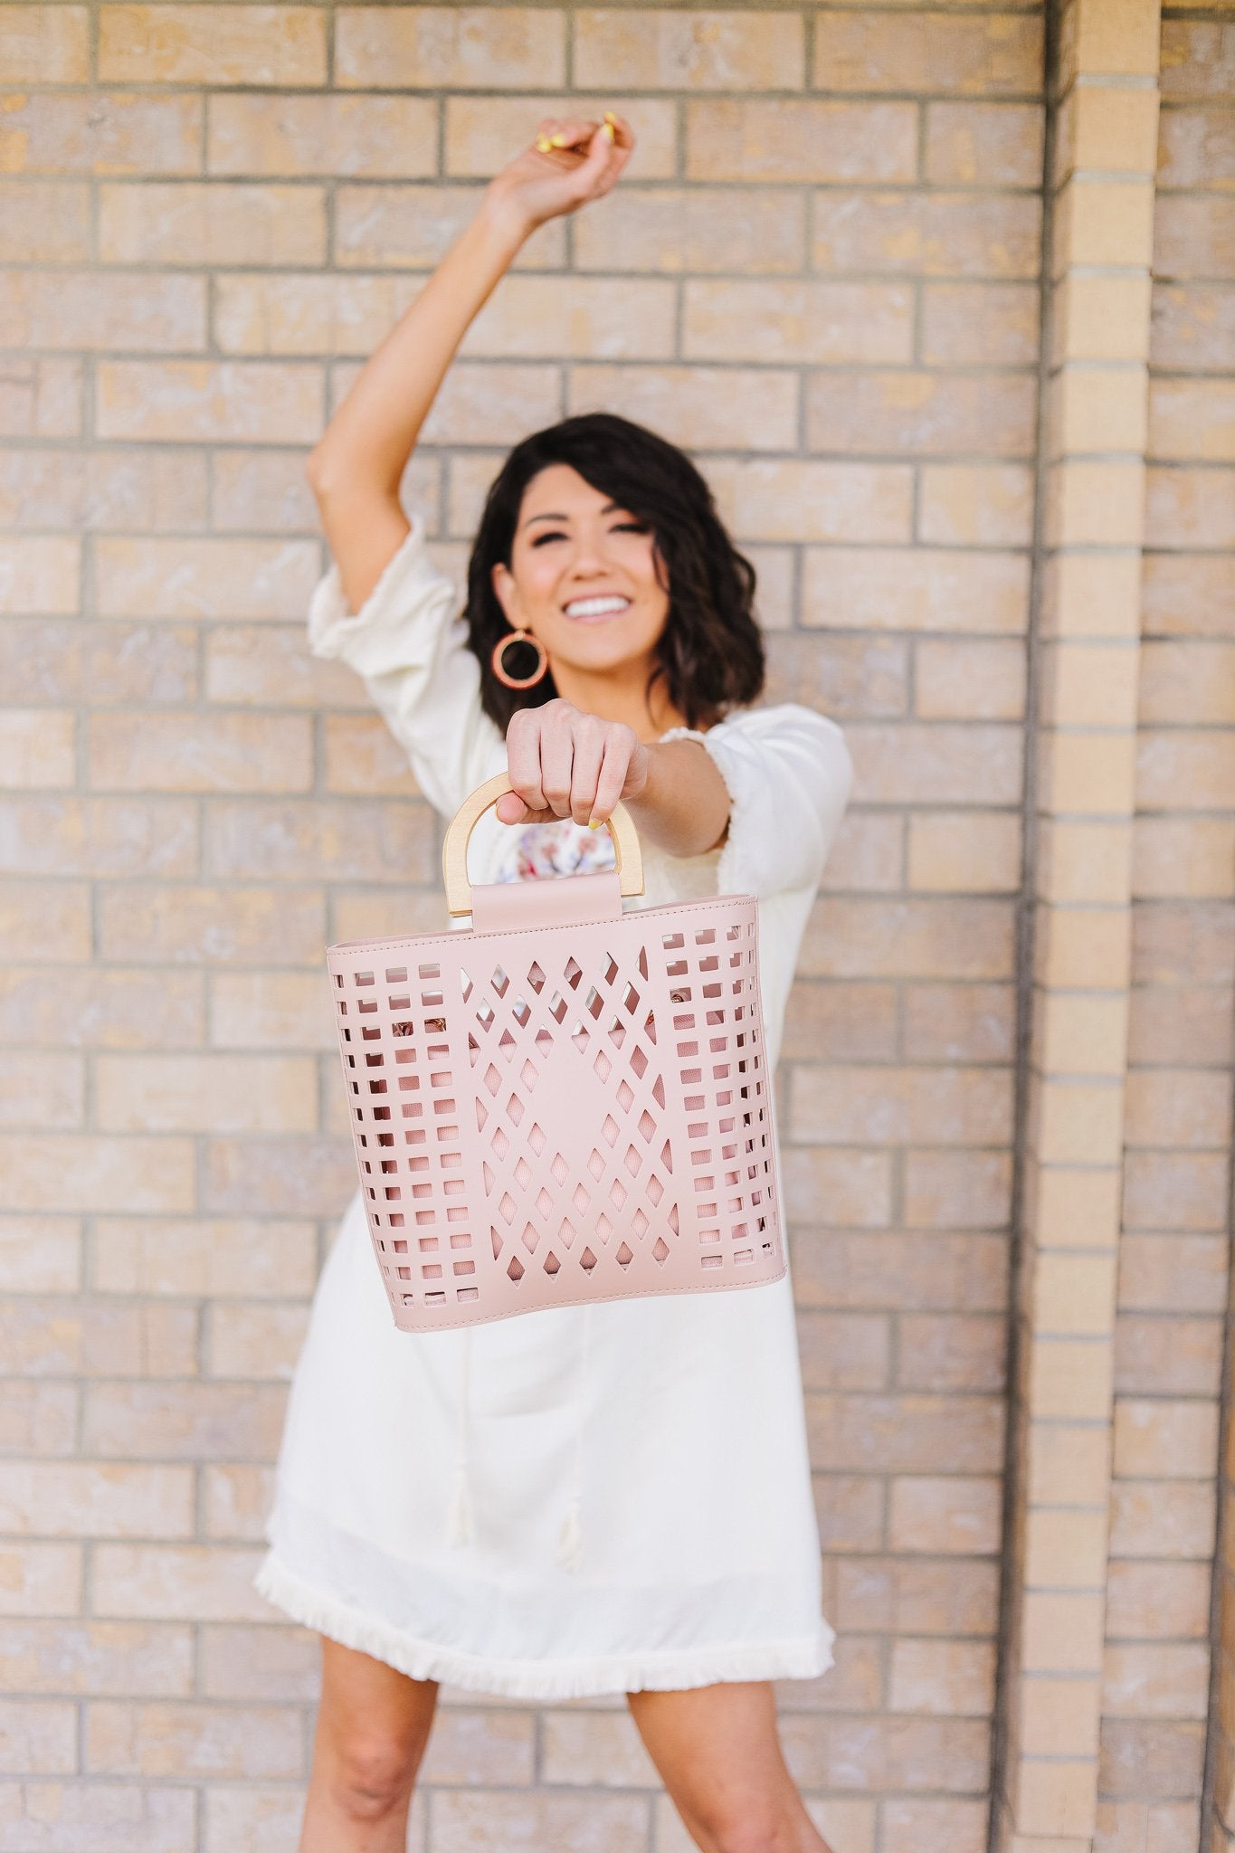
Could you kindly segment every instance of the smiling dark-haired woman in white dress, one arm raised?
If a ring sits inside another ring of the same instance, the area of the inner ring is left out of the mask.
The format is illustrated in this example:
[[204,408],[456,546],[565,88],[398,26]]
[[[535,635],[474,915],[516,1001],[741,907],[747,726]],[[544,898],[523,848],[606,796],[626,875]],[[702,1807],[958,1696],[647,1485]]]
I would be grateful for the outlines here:
[[[535,434],[489,493],[465,617],[398,498],[520,245],[607,193],[631,148],[617,117],[543,122],[363,369],[309,465],[333,554],[309,641],[365,678],[443,817],[509,771],[472,834],[474,880],[611,867],[609,832],[587,825],[620,799],[644,849],[637,904],[755,893],[772,1071],[852,767],[835,723],[748,706],[754,571],[702,476],[615,415]],[[322,1634],[302,1853],[404,1847],[443,1679],[626,1692],[700,1847],[828,1853],[770,1684],[822,1673],[833,1642],[787,1275],[413,1336],[393,1327],[357,1191],[296,1368],[268,1540],[257,1586]]]

